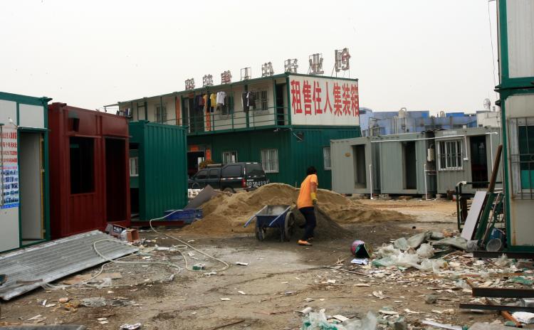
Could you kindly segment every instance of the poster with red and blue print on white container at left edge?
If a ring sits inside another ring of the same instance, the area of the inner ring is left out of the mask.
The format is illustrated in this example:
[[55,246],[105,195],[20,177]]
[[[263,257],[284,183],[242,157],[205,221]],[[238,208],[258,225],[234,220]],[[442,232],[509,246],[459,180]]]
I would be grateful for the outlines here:
[[4,127],[0,143],[3,164],[0,164],[1,174],[1,208],[16,208],[19,206],[19,165],[17,155],[16,129]]

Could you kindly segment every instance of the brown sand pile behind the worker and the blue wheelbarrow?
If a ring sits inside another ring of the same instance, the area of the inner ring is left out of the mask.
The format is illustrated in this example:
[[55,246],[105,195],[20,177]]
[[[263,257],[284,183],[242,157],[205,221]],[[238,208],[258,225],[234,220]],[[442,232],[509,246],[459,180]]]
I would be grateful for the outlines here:
[[[243,228],[246,220],[266,205],[295,205],[298,189],[283,183],[271,183],[256,191],[224,193],[204,203],[204,218],[183,229],[186,233],[224,235],[229,233],[253,233],[254,223]],[[381,211],[372,206],[352,201],[332,191],[319,189],[318,238],[320,236],[344,236],[347,233],[338,223],[358,223],[385,220],[408,220],[409,215],[395,211]],[[323,213],[323,214],[321,214]],[[297,223],[303,223],[303,216],[295,211]],[[297,232],[297,235],[299,233]]]

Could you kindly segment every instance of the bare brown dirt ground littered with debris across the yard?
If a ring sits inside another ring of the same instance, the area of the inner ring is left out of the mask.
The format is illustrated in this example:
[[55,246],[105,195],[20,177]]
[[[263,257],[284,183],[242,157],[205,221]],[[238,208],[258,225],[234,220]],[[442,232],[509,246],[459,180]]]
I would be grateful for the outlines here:
[[[228,270],[205,275],[182,270],[172,282],[162,282],[172,271],[167,266],[112,264],[105,272],[120,272],[122,279],[113,280],[111,287],[71,287],[69,289],[33,292],[1,303],[3,322],[26,322],[41,314],[41,324],[83,324],[89,329],[120,329],[122,324],[140,322],[142,329],[300,329],[305,307],[325,309],[326,314],[342,314],[349,318],[364,316],[368,311],[391,309],[404,316],[414,326],[423,329],[423,319],[434,319],[456,325],[475,321],[494,321],[501,316],[490,313],[462,312],[459,302],[468,302],[471,294],[452,283],[436,280],[431,274],[405,270],[409,280],[387,276],[362,276],[324,268],[336,262],[348,262],[350,245],[360,239],[377,248],[390,240],[409,236],[421,230],[454,230],[456,204],[446,201],[361,201],[376,208],[413,215],[414,220],[389,220],[379,223],[350,223],[352,238],[320,240],[313,247],[301,247],[295,240],[281,243],[275,237],[258,242],[253,233],[228,237],[207,238],[206,235],[184,234],[184,230],[164,230],[189,241],[196,248],[226,260]],[[152,245],[171,246],[176,241],[152,232],[142,232]],[[153,240],[155,239],[155,242]],[[206,268],[221,264],[211,262],[192,251],[190,263],[204,262]],[[166,260],[184,267],[177,252],[151,252],[150,260]],[[133,256],[125,260],[141,260]],[[345,260],[345,261],[342,261]],[[248,266],[236,265],[246,262]],[[99,270],[96,267],[84,273]],[[400,271],[399,271],[400,272]],[[330,280],[330,281],[328,281]],[[328,281],[328,282],[327,282]],[[379,293],[377,293],[379,292]],[[375,294],[374,294],[375,293]],[[425,304],[424,295],[434,293],[435,304]],[[116,299],[124,297],[127,306],[78,307],[67,310],[58,299],[69,297],[71,302],[88,297]],[[43,306],[43,300],[47,302]],[[224,299],[224,300],[221,300]],[[50,306],[55,304],[54,306]],[[449,309],[454,309],[450,311]],[[108,321],[100,324],[101,321]],[[382,325],[382,326],[385,326]]]

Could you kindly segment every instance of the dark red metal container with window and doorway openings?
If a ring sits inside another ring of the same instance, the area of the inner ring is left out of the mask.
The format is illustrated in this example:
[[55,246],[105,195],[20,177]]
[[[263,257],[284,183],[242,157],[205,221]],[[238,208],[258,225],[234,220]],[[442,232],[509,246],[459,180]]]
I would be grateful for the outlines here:
[[52,238],[129,227],[127,119],[55,102],[48,127]]

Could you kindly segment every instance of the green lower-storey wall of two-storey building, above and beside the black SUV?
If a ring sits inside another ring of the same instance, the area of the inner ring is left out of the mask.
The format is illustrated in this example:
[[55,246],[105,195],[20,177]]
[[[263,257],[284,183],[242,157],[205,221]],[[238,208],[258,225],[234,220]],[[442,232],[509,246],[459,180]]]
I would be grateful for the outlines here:
[[[299,141],[295,134],[303,134]],[[290,129],[263,129],[226,134],[209,134],[188,138],[189,145],[205,144],[211,148],[211,158],[222,161],[224,151],[237,151],[238,161],[261,161],[261,149],[278,149],[278,173],[268,173],[271,182],[292,186],[305,177],[308,166],[318,170],[320,188],[332,188],[330,170],[323,166],[323,147],[330,147],[331,139],[360,137],[360,127],[293,127]]]

